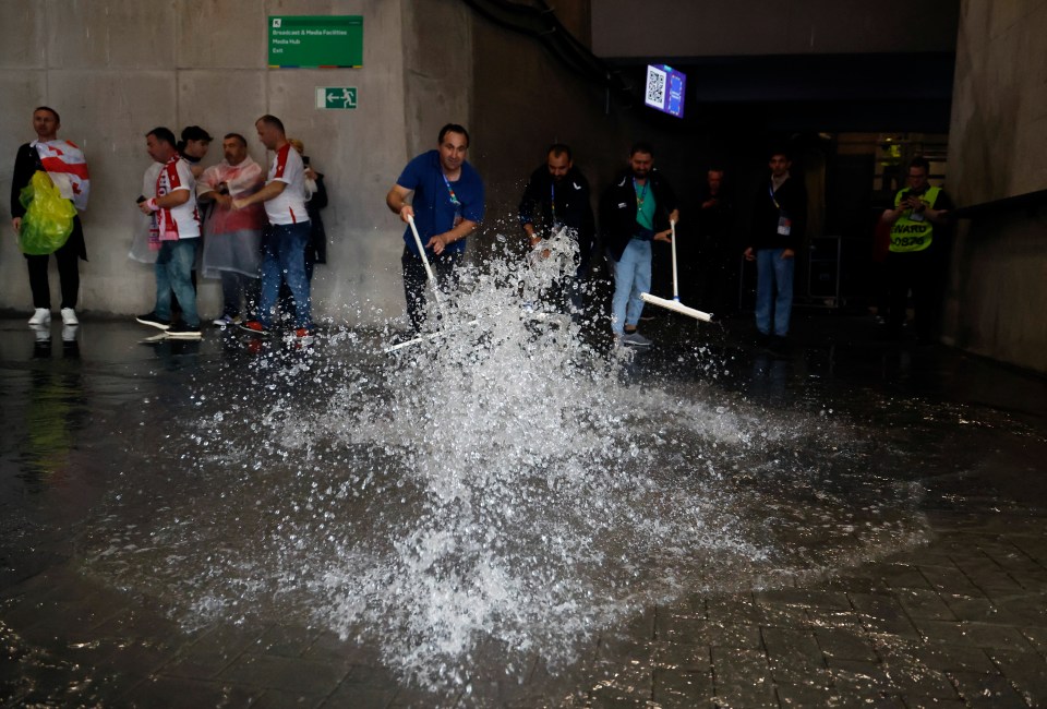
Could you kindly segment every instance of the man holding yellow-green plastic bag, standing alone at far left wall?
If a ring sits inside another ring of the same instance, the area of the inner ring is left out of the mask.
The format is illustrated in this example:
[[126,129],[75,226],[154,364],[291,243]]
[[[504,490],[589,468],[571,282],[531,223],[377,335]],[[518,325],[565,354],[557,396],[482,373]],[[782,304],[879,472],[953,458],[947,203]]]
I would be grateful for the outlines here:
[[[48,256],[53,253],[62,285],[62,323],[76,325],[80,293],[77,260],[87,260],[77,211],[87,207],[91,180],[83,152],[58,140],[58,111],[40,106],[33,111],[36,140],[19,148],[11,181],[11,215],[19,245],[29,269],[35,311],[29,325],[51,322]],[[38,175],[39,173],[39,175]]]

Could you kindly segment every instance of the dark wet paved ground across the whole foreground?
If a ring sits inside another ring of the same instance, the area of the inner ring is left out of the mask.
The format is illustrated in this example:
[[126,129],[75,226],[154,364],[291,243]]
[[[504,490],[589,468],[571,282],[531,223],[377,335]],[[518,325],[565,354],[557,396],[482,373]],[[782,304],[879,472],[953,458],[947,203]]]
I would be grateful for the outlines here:
[[[1047,382],[942,346],[884,341],[868,317],[796,320],[784,352],[751,343],[747,319],[646,323],[655,348],[614,365],[613,400],[636,397],[667,422],[708,420],[651,429],[665,449],[613,478],[642,477],[637,490],[563,497],[598,501],[586,524],[623,515],[616,495],[643,514],[580,538],[562,560],[535,552],[527,573],[526,555],[495,553],[477,573],[505,576],[454,586],[464,601],[441,597],[421,627],[417,606],[450,587],[424,586],[424,565],[390,550],[416,512],[424,531],[446,510],[418,502],[420,483],[369,486],[369,468],[400,457],[381,443],[394,432],[382,421],[370,430],[381,417],[365,406],[335,416],[369,397],[397,406],[396,392],[369,382],[404,365],[381,354],[377,334],[328,328],[302,351],[217,331],[143,344],[146,328],[89,315],[64,338],[57,323],[45,337],[22,317],[2,320],[0,701],[1047,705]],[[613,359],[604,349],[595,356]],[[616,448],[588,449],[610,470]],[[424,455],[412,452],[410,465],[424,468]],[[578,522],[558,516],[562,484],[500,507],[516,515],[508,537],[537,549],[554,528],[574,540]],[[687,509],[672,508],[677,495]],[[390,496],[399,512],[378,500]],[[689,537],[682,520],[702,501],[696,524],[714,528]],[[646,518],[660,525],[649,537],[623,531]],[[363,555],[361,540],[383,565],[346,561]],[[407,567],[413,575],[401,576]],[[601,567],[613,578],[599,579]],[[517,589],[535,569],[559,590]],[[454,637],[430,625],[458,627],[455,613],[500,584],[519,594],[491,601],[497,613],[460,647],[423,652]],[[358,608],[354,594],[369,593],[371,610]],[[543,598],[558,599],[555,612]],[[504,616],[515,602],[514,625]]]

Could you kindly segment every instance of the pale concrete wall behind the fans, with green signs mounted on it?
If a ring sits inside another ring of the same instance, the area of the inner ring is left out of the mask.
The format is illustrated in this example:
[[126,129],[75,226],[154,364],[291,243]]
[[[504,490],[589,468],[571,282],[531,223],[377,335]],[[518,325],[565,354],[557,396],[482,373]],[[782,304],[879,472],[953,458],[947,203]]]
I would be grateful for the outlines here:
[[[363,15],[362,69],[269,70],[266,17]],[[325,173],[327,266],[313,284],[316,313],[350,323],[399,315],[400,225],[386,191],[407,159],[435,144],[440,125],[469,112],[468,23],[455,0],[4,0],[0,3],[0,309],[32,307],[23,259],[11,238],[8,195],[32,110],[53,106],[61,137],[85,152],[92,200],[84,214],[89,262],[82,311],[130,314],[153,304],[152,268],[127,257],[134,199],[149,164],[144,133],[203,125],[243,133],[266,160],[254,120],[280,117]],[[453,43],[446,43],[448,37]],[[405,51],[407,48],[407,51]],[[359,108],[317,110],[316,86],[358,87]],[[417,136],[422,139],[417,139]],[[212,146],[205,164],[221,158]],[[52,266],[57,305],[58,279]],[[217,281],[202,280],[201,313],[220,309]]]

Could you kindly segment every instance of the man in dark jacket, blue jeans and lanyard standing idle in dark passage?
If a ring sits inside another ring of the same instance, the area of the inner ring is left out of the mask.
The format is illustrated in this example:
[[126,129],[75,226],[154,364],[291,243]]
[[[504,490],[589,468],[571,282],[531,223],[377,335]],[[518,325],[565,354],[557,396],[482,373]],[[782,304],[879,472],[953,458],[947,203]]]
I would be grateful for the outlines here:
[[746,261],[756,261],[756,328],[761,345],[784,347],[793,310],[793,272],[807,229],[807,189],[789,173],[784,151],[771,154],[771,176],[756,195]]

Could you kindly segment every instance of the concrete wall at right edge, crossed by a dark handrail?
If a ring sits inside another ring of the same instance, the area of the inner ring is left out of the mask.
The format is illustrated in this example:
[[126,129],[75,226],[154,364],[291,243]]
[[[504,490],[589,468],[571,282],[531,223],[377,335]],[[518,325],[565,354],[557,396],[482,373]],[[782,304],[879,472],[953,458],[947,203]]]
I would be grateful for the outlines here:
[[[965,0],[948,188],[959,205],[1047,190],[1047,2]],[[946,337],[1047,372],[1047,209],[961,220]]]

